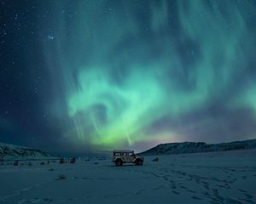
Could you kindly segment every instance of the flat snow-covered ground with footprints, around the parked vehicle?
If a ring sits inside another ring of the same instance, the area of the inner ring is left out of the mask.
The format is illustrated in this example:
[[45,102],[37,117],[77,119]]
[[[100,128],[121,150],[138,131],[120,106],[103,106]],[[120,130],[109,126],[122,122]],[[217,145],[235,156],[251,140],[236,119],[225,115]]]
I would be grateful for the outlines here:
[[256,203],[256,150],[155,157],[123,167],[110,157],[0,162],[0,203]]

